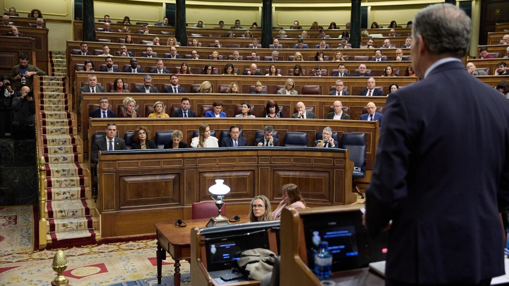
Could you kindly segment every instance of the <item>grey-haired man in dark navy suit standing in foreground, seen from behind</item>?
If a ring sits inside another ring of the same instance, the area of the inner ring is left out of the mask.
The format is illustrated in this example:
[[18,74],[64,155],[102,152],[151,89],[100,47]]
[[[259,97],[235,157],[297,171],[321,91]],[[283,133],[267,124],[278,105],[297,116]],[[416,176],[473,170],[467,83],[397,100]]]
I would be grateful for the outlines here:
[[387,99],[366,190],[367,231],[392,220],[386,285],[490,285],[504,274],[509,103],[465,70],[470,37],[471,20],[454,5],[414,17],[422,80]]

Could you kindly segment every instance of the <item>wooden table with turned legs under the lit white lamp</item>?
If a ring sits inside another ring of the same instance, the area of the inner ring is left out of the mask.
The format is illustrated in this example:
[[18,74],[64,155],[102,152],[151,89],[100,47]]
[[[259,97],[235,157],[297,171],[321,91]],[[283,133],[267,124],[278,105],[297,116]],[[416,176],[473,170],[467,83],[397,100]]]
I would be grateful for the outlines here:
[[[185,221],[187,227],[182,228],[175,225],[174,221],[168,223],[157,223],[157,283],[161,284],[162,261],[166,260],[166,252],[172,256],[175,261],[175,274],[173,276],[175,286],[180,286],[180,261],[191,259],[191,234],[190,229],[204,228],[210,218],[191,219]],[[247,223],[248,215],[241,215],[237,223]],[[235,224],[235,223],[234,223]]]

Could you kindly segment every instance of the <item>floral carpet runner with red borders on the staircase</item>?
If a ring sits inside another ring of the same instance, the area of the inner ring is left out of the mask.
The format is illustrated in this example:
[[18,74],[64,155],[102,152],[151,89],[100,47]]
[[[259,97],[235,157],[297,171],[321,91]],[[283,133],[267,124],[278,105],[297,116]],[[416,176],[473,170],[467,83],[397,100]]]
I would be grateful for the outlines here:
[[[100,238],[90,174],[81,164],[82,140],[70,112],[64,52],[50,52],[51,75],[40,77],[40,115],[46,161],[48,247],[94,243]],[[94,230],[95,228],[95,230]]]

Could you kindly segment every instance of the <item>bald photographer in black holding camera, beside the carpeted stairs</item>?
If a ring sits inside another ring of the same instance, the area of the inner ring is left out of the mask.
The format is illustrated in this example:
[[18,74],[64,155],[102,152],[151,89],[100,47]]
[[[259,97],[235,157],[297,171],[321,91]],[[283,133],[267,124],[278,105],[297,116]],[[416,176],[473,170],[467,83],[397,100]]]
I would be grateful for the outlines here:
[[35,138],[35,99],[34,92],[28,86],[21,87],[21,96],[12,101],[14,122],[12,122],[12,138]]

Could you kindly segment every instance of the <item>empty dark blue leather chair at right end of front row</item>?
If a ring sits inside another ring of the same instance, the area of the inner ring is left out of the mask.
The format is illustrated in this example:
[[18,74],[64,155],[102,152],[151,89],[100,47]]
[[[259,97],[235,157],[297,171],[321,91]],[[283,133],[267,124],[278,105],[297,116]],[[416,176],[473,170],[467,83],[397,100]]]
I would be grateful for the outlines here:
[[355,187],[356,193],[364,199],[364,194],[360,192],[359,187],[355,184],[355,179],[366,176],[366,135],[364,133],[344,133],[341,148],[349,150],[350,161],[356,167],[352,173],[352,186]]

